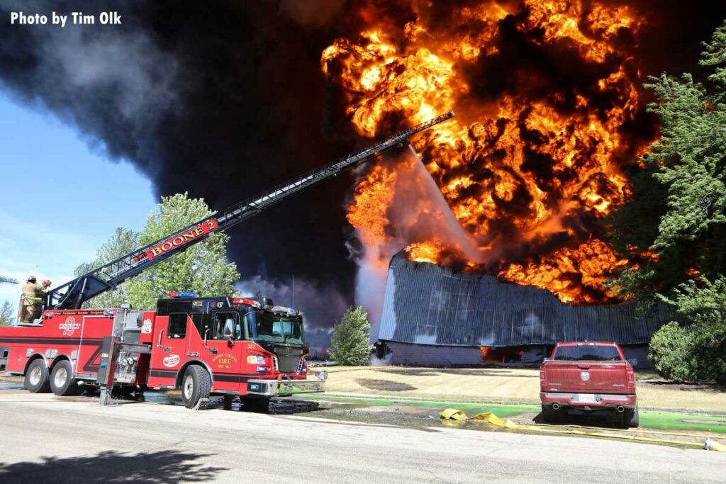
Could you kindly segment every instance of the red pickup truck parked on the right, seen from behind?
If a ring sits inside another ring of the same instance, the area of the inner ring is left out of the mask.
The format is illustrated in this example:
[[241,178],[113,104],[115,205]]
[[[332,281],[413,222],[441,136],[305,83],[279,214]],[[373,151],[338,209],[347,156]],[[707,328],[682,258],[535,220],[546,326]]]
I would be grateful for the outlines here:
[[635,364],[615,343],[558,343],[539,367],[542,419],[610,412],[622,427],[637,427]]

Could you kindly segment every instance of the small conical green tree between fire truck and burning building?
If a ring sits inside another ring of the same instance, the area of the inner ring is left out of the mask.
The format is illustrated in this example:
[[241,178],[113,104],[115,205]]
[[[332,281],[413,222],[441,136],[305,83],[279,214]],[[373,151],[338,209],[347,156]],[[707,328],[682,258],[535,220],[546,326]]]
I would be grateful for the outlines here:
[[330,357],[339,364],[361,366],[369,363],[373,345],[370,343],[368,313],[358,306],[346,309],[343,319],[333,327]]

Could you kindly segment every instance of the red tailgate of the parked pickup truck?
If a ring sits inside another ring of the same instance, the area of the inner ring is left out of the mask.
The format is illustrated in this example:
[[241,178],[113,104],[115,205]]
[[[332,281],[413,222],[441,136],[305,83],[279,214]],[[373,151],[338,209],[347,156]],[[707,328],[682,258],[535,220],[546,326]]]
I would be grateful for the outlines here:
[[625,361],[547,361],[542,390],[572,393],[632,393]]

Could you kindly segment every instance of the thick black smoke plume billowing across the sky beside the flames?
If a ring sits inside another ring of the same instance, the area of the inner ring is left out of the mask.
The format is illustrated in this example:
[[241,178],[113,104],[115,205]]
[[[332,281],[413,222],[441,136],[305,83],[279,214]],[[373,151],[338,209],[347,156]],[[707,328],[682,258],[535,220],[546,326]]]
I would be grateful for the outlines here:
[[[367,3],[396,28],[417,11],[417,1],[6,0],[0,86],[75,126],[110,160],[129,160],[157,194],[187,191],[222,209],[356,147],[319,59],[333,39],[359,32],[355,14]],[[700,42],[726,16],[718,3],[634,1],[648,12],[644,72],[696,70]],[[10,25],[14,11],[118,11],[122,25]],[[351,300],[352,181],[329,181],[233,229],[242,276],[264,263],[272,279],[295,274]]]

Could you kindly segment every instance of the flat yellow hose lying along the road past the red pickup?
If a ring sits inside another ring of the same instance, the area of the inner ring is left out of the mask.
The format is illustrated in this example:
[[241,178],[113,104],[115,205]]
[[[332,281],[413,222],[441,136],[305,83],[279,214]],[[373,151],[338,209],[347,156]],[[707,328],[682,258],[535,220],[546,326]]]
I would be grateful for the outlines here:
[[[560,429],[560,428],[553,428],[553,426],[550,425],[539,425],[539,424],[517,424],[515,422],[512,422],[510,419],[502,420],[496,415],[486,412],[482,414],[476,414],[473,417],[468,417],[467,414],[465,414],[462,410],[457,409],[446,409],[441,412],[440,417],[442,419],[453,419],[453,420],[480,420],[484,422],[489,422],[490,424],[497,425],[497,427],[504,427],[507,429],[517,429],[517,430],[530,430],[532,432],[549,432],[549,433],[560,433],[560,434],[574,434],[574,435],[590,435],[591,437],[606,437],[606,438],[619,438],[623,440],[635,440],[637,442],[653,442],[653,443],[670,443],[670,444],[678,444],[680,446],[693,446],[693,447],[703,447],[703,443],[699,442],[687,442],[685,440],[666,440],[666,439],[660,439],[660,438],[650,438],[650,437],[640,437],[639,435],[635,435],[634,432],[628,432],[629,435],[624,434],[610,434],[605,432],[587,432],[585,430],[576,430],[576,429]],[[547,428],[544,428],[547,427]],[[599,427],[580,427],[580,428],[588,428],[593,430],[605,430],[601,429]],[[607,429],[610,430],[610,429]],[[656,433],[656,432],[653,432]],[[657,433],[667,433],[668,435],[681,435],[683,437],[688,437],[689,435],[682,435],[677,434],[675,432],[657,432]],[[703,438],[705,436],[702,435],[692,435],[693,437]],[[711,437],[709,437],[710,439]],[[712,440],[709,442],[706,442],[706,448],[711,448],[714,451],[719,452],[726,452],[726,444],[717,443]]]

